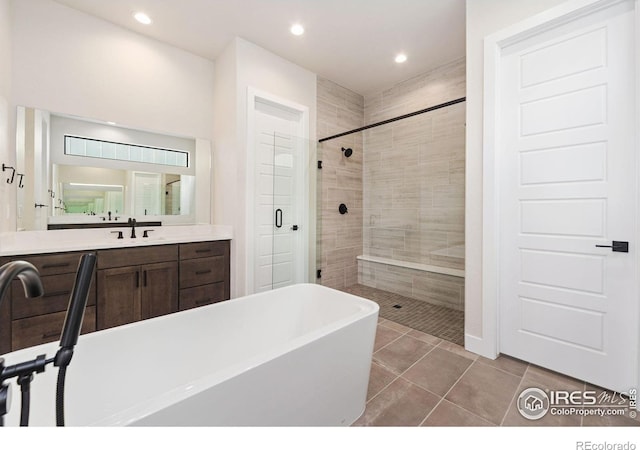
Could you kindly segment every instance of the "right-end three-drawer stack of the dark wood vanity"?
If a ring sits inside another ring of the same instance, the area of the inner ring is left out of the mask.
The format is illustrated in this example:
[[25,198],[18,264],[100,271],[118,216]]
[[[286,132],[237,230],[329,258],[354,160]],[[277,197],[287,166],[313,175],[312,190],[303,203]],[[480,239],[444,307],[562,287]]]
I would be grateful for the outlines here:
[[180,244],[180,310],[228,300],[229,241]]

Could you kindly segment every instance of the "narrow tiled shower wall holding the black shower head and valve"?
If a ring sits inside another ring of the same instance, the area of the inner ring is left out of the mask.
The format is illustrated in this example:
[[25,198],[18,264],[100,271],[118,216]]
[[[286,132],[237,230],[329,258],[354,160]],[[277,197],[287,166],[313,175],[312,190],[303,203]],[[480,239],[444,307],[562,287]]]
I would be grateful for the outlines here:
[[[318,78],[320,138],[353,130],[364,124],[364,98],[329,80]],[[341,148],[351,148],[345,158]],[[318,265],[323,285],[343,289],[358,282],[356,257],[362,254],[362,133],[319,144]],[[347,205],[341,215],[338,207]]]

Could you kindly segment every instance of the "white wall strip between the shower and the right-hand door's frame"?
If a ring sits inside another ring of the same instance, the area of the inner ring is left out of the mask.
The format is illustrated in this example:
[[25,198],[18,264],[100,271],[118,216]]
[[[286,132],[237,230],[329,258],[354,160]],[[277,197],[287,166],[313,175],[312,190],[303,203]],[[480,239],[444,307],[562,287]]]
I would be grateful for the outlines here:
[[[482,340],[483,39],[564,0],[467,0],[466,345]],[[471,344],[473,345],[473,344]],[[491,355],[485,355],[491,356]]]

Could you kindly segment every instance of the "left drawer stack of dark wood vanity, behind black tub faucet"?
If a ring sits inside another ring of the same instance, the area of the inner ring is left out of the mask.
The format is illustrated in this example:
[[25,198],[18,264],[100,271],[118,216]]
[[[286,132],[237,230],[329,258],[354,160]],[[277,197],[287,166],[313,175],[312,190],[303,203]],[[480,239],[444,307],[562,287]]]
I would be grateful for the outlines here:
[[[57,341],[62,333],[69,298],[75,282],[76,271],[81,255],[85,252],[54,253],[46,255],[12,256],[8,261],[27,261],[33,264],[40,273],[44,287],[44,295],[37,298],[26,298],[22,283],[14,280],[11,283],[10,302],[5,298],[5,305],[10,304],[8,339],[4,346],[10,350]],[[82,322],[82,333],[96,329],[96,283],[95,274],[89,288],[87,308]],[[6,306],[3,305],[3,309]],[[0,319],[2,320],[2,319]],[[4,325],[4,323],[3,323]],[[4,326],[2,326],[4,329]]]

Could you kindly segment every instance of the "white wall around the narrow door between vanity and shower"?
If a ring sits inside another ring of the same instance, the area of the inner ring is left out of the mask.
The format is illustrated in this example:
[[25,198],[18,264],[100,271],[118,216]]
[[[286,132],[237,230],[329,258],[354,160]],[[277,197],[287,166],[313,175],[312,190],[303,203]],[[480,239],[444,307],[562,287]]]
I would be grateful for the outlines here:
[[[216,176],[224,175],[223,191],[215,193],[215,218],[233,225],[235,260],[232,261],[231,295],[245,294],[246,186],[247,186],[247,90],[249,87],[307,106],[309,136],[315,140],[316,75],[257,45],[234,39],[216,61],[215,125]],[[233,86],[233,88],[232,88]],[[233,95],[230,90],[233,91]],[[315,175],[315,174],[313,174]]]

